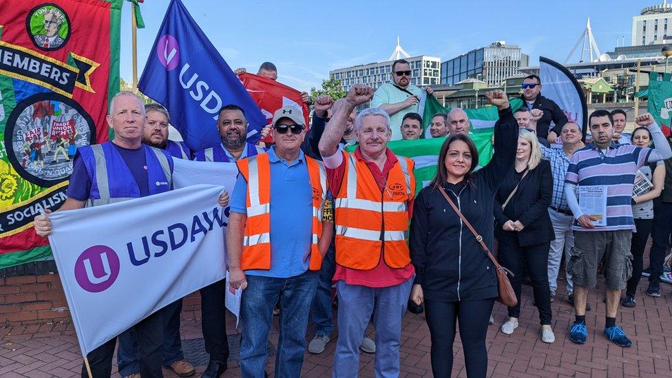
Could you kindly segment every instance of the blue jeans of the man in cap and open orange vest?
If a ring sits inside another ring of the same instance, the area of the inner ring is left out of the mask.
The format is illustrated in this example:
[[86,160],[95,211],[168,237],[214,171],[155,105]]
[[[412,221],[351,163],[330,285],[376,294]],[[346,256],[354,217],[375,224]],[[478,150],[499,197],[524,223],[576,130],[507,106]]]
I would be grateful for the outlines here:
[[240,301],[240,373],[262,378],[269,355],[266,343],[273,323],[273,305],[280,297],[280,337],[275,356],[275,377],[300,377],[306,350],[308,313],[315,297],[317,272],[289,278],[248,275]]

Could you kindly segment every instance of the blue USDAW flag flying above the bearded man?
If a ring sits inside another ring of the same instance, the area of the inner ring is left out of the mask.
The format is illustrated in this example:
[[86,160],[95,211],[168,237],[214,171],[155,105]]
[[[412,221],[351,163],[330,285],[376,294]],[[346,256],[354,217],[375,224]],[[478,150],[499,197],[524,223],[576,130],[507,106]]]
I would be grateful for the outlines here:
[[168,109],[171,124],[194,151],[221,143],[216,123],[222,105],[244,109],[251,143],[268,123],[180,0],[168,6],[138,89]]

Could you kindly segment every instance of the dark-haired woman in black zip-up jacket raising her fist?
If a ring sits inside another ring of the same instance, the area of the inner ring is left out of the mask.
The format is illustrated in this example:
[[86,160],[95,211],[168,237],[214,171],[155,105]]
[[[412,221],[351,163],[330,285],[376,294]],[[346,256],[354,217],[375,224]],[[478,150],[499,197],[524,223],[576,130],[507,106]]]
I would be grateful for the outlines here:
[[465,135],[450,136],[441,146],[437,176],[413,205],[410,255],[416,276],[411,299],[425,304],[434,377],[450,377],[458,319],[467,375],[485,377],[487,372],[485,335],[498,295],[494,265],[439,191],[445,190],[492,249],[493,198],[502,172],[513,167],[518,126],[504,92],[485,96],[499,109],[492,160],[474,172],[479,162],[474,142]]

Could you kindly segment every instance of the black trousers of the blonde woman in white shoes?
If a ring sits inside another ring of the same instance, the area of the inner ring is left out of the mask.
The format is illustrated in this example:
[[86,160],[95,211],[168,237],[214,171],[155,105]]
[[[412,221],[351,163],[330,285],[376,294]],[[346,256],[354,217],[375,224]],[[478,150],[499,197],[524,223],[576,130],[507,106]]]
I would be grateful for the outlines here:
[[510,317],[521,317],[521,291],[523,286],[523,271],[532,282],[534,303],[539,310],[539,320],[542,325],[551,324],[551,290],[548,286],[548,251],[551,242],[521,246],[518,238],[504,235],[499,240],[497,260],[505,266],[514,277],[509,277],[518,298],[515,307],[509,307]]

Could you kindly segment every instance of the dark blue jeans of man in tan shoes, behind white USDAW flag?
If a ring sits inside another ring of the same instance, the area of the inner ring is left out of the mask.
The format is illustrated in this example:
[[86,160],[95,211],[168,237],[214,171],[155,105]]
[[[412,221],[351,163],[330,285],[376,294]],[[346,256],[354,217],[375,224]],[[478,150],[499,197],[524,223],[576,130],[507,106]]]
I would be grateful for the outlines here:
[[[175,361],[185,359],[182,354],[182,342],[180,341],[182,299],[165,306],[161,311],[163,312],[162,364],[163,366],[171,366]],[[138,343],[136,342],[136,331],[133,327],[119,335],[116,361],[119,374],[122,377],[140,372]]]

